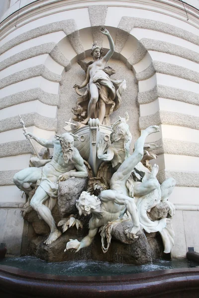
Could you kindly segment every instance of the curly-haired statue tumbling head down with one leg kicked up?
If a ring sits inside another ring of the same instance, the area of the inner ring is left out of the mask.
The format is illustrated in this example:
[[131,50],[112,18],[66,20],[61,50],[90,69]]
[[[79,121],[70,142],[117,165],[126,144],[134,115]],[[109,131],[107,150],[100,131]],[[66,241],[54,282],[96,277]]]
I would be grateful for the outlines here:
[[[81,242],[77,239],[71,239],[67,243],[66,249],[76,249],[76,251],[79,251],[81,248],[89,246],[97,234],[98,228],[108,222],[121,218],[126,212],[126,209],[133,222],[133,227],[126,231],[126,233],[132,239],[137,238],[136,233],[140,230],[138,211],[135,199],[129,197],[126,183],[132,170],[143,157],[143,147],[146,137],[158,131],[158,126],[150,126],[142,132],[142,135],[135,143],[133,154],[127,157],[112,175],[109,190],[103,190],[98,197],[91,196],[87,192],[81,194],[76,204],[79,214],[90,215],[92,213],[93,215],[89,222],[89,234]],[[151,188],[152,190],[153,187]],[[144,191],[146,190],[142,190],[143,194]]]

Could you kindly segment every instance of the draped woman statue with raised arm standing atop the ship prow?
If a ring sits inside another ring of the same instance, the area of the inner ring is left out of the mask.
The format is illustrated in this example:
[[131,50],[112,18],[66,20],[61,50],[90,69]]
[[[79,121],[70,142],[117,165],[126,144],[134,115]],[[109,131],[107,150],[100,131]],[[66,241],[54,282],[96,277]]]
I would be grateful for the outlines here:
[[[101,58],[102,48],[94,42],[91,51],[94,62],[79,62],[86,72],[86,79],[81,85],[74,85],[80,97],[73,109],[76,115],[73,119],[83,124],[87,124],[90,118],[99,118],[100,124],[110,125],[109,115],[119,108],[122,91],[126,88],[125,80],[110,79],[110,75],[115,74],[115,71],[110,67],[105,68],[105,65],[114,52],[114,42],[104,27],[101,27],[101,33],[107,36],[110,50]],[[82,95],[78,89],[85,86],[87,89]]]

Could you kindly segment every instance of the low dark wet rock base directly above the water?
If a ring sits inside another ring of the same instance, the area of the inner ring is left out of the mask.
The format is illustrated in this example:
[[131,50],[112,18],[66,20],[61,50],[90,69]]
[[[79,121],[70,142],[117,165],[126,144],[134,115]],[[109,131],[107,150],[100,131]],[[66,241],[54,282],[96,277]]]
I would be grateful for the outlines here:
[[32,239],[29,254],[48,261],[63,262],[75,260],[96,260],[124,264],[146,264],[163,256],[163,244],[158,233],[145,234],[140,236],[133,244],[124,244],[118,240],[111,240],[108,251],[104,254],[101,250],[100,233],[97,234],[91,246],[80,250],[77,253],[66,251],[66,243],[71,238],[81,239],[86,231],[78,231],[75,227],[70,228],[50,245],[43,244],[46,236]]

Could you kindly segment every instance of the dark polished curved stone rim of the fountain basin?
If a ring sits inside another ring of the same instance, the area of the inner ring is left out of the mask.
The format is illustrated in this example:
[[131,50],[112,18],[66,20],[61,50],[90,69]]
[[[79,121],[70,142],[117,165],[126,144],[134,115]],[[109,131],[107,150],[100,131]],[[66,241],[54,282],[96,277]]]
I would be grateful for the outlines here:
[[153,295],[169,298],[171,293],[178,293],[180,297],[187,297],[184,295],[189,293],[189,297],[197,297],[195,295],[199,293],[199,268],[82,277],[40,274],[0,265],[0,293],[26,295],[28,298],[35,295],[38,298],[119,298],[121,295],[125,298]]

